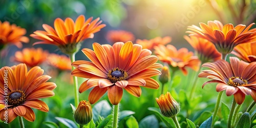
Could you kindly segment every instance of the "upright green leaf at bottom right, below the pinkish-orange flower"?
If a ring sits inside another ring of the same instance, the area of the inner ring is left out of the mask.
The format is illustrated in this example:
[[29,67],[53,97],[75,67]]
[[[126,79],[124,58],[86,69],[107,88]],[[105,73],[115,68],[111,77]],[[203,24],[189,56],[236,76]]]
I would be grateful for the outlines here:
[[250,121],[250,114],[249,113],[244,113],[241,117],[240,117],[240,119],[239,119],[239,121],[238,121],[238,125],[237,125],[237,127],[238,128],[249,128],[250,127],[250,125],[251,125],[251,121]]

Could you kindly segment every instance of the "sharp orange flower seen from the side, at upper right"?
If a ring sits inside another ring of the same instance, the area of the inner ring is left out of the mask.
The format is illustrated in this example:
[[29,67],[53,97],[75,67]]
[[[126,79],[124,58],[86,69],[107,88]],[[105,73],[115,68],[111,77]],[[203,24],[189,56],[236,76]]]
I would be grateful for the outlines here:
[[199,24],[201,28],[195,25],[188,26],[190,31],[187,31],[187,33],[209,40],[223,54],[230,53],[239,44],[256,42],[256,29],[249,30],[254,23],[247,28],[245,28],[245,25],[234,27],[232,24],[226,24],[223,26],[218,20],[208,21],[207,25]]

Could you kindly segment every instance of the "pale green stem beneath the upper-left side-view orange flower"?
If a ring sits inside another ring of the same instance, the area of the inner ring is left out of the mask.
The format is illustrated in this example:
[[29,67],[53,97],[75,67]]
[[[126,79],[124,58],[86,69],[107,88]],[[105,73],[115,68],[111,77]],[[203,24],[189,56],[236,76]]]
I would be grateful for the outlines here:
[[[76,53],[73,53],[70,55],[71,62],[75,61],[75,55]],[[75,69],[75,67],[72,66],[72,71]],[[75,106],[78,106],[79,104],[79,95],[78,95],[78,82],[77,82],[77,77],[73,76],[73,81],[74,81],[74,91],[75,91]]]

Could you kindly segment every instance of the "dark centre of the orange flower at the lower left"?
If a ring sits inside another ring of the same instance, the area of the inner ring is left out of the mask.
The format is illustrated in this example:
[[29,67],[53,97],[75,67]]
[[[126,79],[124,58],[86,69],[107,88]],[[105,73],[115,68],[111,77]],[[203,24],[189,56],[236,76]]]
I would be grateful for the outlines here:
[[16,90],[7,94],[8,105],[18,106],[26,101],[26,96],[23,91]]

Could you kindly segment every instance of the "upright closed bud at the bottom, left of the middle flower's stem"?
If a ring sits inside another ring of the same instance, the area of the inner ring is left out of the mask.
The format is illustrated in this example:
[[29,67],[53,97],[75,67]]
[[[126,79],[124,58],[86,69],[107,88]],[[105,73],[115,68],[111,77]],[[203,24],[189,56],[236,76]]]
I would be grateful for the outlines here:
[[93,112],[90,102],[86,100],[80,101],[74,113],[75,121],[79,125],[86,125],[92,120],[92,117]]

